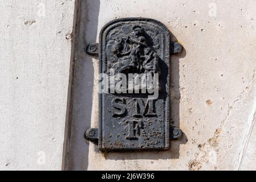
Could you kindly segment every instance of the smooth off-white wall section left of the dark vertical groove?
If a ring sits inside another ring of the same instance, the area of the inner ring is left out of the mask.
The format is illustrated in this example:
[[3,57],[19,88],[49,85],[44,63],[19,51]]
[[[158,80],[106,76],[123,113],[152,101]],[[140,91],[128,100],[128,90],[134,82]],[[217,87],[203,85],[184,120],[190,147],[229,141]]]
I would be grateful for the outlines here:
[[0,2],[0,169],[61,169],[74,0]]

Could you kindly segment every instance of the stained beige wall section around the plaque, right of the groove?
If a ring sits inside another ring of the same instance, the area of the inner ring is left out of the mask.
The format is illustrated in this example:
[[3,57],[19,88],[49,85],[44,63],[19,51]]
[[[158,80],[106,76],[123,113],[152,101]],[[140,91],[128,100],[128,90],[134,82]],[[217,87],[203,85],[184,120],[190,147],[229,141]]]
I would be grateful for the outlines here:
[[[103,0],[81,7],[68,169],[256,169],[255,1]],[[169,151],[103,155],[83,139],[98,118],[98,63],[83,48],[110,20],[139,16],[160,20],[185,48],[171,60],[172,121],[185,134]]]

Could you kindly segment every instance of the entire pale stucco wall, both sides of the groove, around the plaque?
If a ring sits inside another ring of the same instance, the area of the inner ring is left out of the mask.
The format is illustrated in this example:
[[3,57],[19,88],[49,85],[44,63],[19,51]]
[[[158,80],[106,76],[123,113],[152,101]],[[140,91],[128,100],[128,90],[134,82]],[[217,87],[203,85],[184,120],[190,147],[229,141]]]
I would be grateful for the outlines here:
[[[65,169],[256,169],[253,0],[80,2]],[[2,170],[62,169],[74,7],[74,0],[0,2]],[[84,47],[110,20],[139,16],[164,23],[184,46],[171,59],[171,117],[184,136],[168,151],[101,154],[83,138],[99,116],[98,61]]]

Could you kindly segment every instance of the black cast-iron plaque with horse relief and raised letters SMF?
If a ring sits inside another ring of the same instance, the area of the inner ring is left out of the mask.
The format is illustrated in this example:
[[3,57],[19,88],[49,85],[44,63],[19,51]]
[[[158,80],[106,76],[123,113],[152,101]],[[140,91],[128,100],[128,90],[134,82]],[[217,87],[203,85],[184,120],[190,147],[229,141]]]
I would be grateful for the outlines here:
[[99,129],[87,130],[86,138],[96,138],[101,151],[168,149],[170,53],[181,52],[180,44],[170,43],[168,29],[157,20],[124,18],[107,23],[99,47],[90,44],[87,52],[97,55],[97,49],[100,73],[157,73],[159,94],[151,99],[148,92],[128,89],[100,93]]

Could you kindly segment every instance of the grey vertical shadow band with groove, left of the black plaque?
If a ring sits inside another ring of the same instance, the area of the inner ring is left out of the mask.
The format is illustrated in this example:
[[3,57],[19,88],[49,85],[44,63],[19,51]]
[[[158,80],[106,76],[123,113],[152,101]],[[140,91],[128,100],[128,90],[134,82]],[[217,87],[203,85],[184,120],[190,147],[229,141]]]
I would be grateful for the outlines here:
[[[92,94],[94,88],[94,65],[86,55],[88,43],[97,42],[97,25],[100,0],[76,0],[73,28],[72,55],[74,73],[70,96],[70,115],[66,133],[67,149],[64,150],[65,170],[86,170],[88,167],[89,142],[84,139],[84,131],[91,127]],[[66,155],[66,156],[65,156]]]

